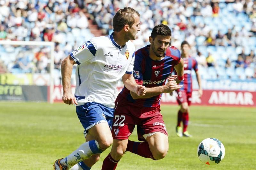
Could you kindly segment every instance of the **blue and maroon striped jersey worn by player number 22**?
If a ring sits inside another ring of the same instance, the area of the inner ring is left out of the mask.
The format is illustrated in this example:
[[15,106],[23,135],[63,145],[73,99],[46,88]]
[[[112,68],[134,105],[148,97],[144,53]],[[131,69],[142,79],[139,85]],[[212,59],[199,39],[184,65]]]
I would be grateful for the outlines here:
[[[135,52],[133,76],[137,84],[147,88],[162,86],[168,76],[173,72],[174,66],[180,63],[180,51],[175,46],[169,46],[164,59],[154,61],[149,57],[150,45],[140,48]],[[162,94],[147,99],[132,99],[130,91],[124,87],[121,91],[123,97],[137,106],[154,107],[160,104]]]

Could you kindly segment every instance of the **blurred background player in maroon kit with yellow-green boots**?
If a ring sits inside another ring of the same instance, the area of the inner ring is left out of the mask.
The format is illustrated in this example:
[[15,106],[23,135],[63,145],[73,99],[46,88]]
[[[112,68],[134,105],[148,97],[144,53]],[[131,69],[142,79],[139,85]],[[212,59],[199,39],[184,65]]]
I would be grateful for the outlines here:
[[[187,41],[183,41],[181,43],[181,57],[184,60],[184,81],[180,82],[180,85],[183,85],[182,88],[177,90],[177,101],[180,105],[180,110],[178,112],[178,123],[176,127],[176,134],[179,137],[192,137],[187,131],[188,127],[188,112],[189,106],[191,104],[191,97],[192,97],[192,76],[191,72],[192,69],[196,72],[196,79],[199,85],[198,94],[199,97],[202,96],[203,90],[201,85],[201,77],[198,73],[197,62],[196,59],[189,55],[190,45]],[[172,92],[171,92],[172,95]],[[183,131],[181,127],[181,122],[183,122]]]

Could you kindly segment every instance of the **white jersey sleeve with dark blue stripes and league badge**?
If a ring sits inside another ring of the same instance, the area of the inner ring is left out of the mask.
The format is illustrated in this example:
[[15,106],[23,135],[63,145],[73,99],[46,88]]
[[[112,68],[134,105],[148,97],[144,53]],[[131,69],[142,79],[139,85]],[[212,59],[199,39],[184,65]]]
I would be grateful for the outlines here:
[[97,44],[93,39],[87,41],[70,53],[71,58],[79,65],[90,62],[97,52]]

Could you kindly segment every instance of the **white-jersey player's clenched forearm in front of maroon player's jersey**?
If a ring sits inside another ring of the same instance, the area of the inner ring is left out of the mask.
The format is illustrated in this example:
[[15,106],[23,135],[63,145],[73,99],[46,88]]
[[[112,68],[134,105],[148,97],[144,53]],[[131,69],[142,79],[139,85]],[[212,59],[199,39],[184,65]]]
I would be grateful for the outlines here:
[[144,96],[146,93],[146,87],[136,83],[133,74],[124,74],[122,77],[124,86],[135,93],[137,96]]

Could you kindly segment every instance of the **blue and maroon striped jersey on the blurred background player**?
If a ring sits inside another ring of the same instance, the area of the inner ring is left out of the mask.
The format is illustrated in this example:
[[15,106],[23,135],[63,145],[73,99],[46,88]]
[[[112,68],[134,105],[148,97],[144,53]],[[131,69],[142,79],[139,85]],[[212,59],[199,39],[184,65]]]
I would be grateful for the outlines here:
[[[179,85],[183,85],[182,88],[178,89],[177,91],[186,91],[192,92],[192,69],[195,71],[198,70],[197,68],[197,61],[193,57],[183,58],[184,61],[184,80],[180,82]],[[176,73],[175,73],[176,74]]]

